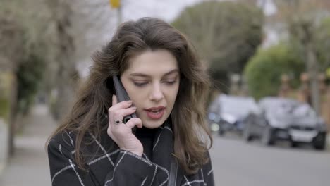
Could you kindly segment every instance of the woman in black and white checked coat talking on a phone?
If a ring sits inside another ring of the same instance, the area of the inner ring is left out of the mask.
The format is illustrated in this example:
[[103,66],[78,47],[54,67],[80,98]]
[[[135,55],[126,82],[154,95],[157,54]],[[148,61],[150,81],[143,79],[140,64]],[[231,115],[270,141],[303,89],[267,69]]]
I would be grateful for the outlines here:
[[[52,185],[214,185],[204,123],[209,79],[187,39],[164,21],[140,18],[123,23],[93,60],[49,140]],[[118,102],[114,75],[131,101]]]

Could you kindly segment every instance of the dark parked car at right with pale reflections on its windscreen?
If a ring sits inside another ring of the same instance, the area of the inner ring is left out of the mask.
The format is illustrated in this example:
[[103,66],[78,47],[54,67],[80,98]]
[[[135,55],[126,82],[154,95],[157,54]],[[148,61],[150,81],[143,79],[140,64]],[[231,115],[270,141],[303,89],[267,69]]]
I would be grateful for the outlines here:
[[243,137],[258,137],[265,145],[288,140],[291,146],[310,143],[315,149],[326,147],[326,123],[309,104],[293,99],[266,97],[259,101],[259,112],[247,116]]

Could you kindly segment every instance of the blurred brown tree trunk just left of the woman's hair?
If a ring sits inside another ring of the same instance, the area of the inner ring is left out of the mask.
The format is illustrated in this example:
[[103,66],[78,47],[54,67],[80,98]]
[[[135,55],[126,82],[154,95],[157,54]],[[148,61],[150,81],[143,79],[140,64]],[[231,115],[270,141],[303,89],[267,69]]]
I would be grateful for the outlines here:
[[67,1],[49,1],[53,17],[56,20],[56,32],[59,53],[56,57],[58,63],[56,77],[56,104],[55,118],[61,120],[68,113],[73,102],[75,85],[77,84],[78,73],[75,69],[75,46],[70,33],[72,28],[72,10]]

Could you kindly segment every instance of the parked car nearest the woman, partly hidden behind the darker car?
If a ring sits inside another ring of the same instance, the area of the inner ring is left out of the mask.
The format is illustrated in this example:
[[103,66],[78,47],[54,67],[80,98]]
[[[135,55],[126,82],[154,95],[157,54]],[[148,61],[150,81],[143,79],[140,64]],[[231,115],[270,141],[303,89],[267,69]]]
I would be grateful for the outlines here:
[[255,109],[258,106],[252,97],[220,94],[209,106],[209,127],[219,135],[230,130],[241,133],[246,117]]

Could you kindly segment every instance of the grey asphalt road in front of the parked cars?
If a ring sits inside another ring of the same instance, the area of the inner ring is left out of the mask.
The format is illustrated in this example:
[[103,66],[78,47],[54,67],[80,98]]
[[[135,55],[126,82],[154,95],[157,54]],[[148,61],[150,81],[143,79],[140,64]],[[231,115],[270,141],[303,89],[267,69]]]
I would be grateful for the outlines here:
[[326,186],[330,185],[330,151],[286,142],[263,147],[257,141],[214,136],[211,150],[216,185]]

